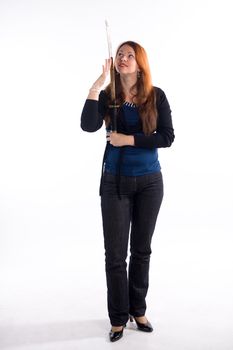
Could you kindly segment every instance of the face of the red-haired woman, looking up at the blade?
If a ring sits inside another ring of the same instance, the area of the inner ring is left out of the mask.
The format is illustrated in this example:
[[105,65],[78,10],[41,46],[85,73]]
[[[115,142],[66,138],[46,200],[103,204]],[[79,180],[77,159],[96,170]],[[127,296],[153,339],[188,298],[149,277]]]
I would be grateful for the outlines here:
[[138,64],[135,59],[135,51],[131,46],[120,47],[115,58],[115,68],[121,75],[137,74]]

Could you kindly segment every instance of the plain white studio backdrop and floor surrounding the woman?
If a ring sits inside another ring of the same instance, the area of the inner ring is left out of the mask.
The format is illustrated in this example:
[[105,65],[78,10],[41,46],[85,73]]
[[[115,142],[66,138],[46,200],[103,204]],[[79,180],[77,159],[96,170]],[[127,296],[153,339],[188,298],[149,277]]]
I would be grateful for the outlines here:
[[113,49],[146,49],[176,139],[152,246],[151,335],[121,349],[233,348],[232,10],[208,0],[0,0],[0,349],[109,349],[98,186],[80,129]]

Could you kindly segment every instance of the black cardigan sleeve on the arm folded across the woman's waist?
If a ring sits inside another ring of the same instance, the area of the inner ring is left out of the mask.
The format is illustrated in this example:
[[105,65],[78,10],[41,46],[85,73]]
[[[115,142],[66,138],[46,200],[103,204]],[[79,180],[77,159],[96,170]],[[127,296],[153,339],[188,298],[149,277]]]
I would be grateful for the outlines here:
[[175,139],[169,102],[162,89],[157,87],[156,90],[158,110],[157,130],[149,136],[134,135],[134,143],[136,147],[150,149],[170,147]]

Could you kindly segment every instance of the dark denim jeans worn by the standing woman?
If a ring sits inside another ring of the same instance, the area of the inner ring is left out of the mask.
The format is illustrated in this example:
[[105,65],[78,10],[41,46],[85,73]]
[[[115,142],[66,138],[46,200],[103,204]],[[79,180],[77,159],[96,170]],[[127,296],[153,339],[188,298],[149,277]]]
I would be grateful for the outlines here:
[[161,172],[121,176],[119,198],[116,177],[106,173],[103,176],[101,209],[108,313],[111,324],[120,326],[128,321],[129,314],[143,316],[146,311],[151,239],[163,198],[163,179]]

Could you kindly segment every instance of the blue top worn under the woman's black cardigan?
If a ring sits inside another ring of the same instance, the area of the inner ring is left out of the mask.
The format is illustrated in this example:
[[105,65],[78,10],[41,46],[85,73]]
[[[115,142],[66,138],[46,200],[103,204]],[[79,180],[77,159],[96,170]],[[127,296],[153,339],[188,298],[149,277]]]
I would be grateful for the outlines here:
[[[122,106],[125,121],[129,126],[136,125],[139,121],[139,113],[136,105],[125,102]],[[136,135],[143,135],[137,133]],[[114,147],[109,145],[104,169],[107,173],[117,174],[120,161],[120,174],[125,176],[140,176],[160,171],[157,148],[146,149],[135,146]]]

